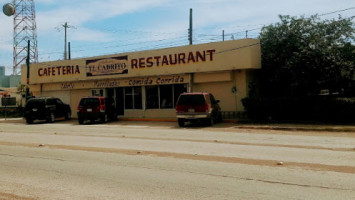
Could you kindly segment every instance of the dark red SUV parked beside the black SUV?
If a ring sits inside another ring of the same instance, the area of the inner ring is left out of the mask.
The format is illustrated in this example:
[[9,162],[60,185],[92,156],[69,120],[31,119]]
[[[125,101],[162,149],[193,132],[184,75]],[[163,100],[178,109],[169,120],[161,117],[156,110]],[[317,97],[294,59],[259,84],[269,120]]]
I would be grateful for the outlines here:
[[105,97],[83,97],[78,106],[79,124],[83,124],[85,120],[94,122],[97,119],[102,123],[117,119],[113,100]]

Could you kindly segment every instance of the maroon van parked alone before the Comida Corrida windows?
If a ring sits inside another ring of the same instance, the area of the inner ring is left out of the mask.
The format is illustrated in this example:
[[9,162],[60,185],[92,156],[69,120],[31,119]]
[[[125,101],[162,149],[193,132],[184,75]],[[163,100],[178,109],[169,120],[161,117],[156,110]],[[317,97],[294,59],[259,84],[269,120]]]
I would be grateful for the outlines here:
[[219,100],[215,100],[210,93],[194,92],[183,93],[176,103],[176,117],[179,126],[184,126],[186,121],[204,121],[207,125],[222,120]]

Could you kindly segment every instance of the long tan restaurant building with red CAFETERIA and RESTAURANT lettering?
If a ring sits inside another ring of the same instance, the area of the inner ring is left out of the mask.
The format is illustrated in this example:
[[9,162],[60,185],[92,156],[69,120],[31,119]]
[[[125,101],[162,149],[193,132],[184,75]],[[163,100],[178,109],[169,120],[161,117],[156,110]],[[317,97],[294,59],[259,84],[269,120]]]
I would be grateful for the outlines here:
[[[71,105],[84,96],[114,99],[119,118],[175,119],[183,92],[210,92],[223,112],[244,108],[249,85],[261,68],[260,41],[242,39],[30,65],[29,88]],[[27,67],[22,66],[22,84]]]

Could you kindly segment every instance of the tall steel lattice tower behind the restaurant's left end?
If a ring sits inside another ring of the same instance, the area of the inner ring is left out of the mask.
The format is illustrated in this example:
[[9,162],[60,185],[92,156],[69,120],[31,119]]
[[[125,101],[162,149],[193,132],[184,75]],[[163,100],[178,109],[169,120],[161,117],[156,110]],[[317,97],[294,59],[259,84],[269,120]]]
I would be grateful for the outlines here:
[[12,0],[12,4],[15,7],[13,74],[18,75],[21,65],[26,64],[28,52],[30,63],[38,62],[36,12],[33,0]]

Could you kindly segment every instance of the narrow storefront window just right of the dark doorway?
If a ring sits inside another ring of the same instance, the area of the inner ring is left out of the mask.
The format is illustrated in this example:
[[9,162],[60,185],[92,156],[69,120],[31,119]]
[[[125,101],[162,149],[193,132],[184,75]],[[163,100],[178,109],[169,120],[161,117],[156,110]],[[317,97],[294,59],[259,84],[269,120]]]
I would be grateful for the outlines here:
[[142,109],[142,88],[125,88],[125,109]]

